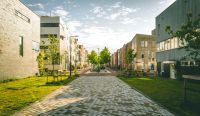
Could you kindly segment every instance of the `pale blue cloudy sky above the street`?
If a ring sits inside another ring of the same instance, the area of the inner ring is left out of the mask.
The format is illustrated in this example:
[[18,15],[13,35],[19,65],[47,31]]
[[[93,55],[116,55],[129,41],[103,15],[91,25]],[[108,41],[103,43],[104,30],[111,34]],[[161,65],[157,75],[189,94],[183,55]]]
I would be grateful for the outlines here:
[[136,33],[151,34],[155,17],[175,0],[21,0],[40,16],[61,16],[87,50],[112,52]]

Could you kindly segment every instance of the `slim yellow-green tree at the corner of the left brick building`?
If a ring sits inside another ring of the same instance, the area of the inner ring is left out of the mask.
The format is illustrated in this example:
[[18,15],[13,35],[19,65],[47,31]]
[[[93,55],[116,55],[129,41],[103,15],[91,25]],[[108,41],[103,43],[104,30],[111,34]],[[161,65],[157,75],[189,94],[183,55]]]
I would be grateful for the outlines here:
[[44,57],[45,57],[44,50],[40,50],[40,53],[37,56],[40,76],[44,75]]

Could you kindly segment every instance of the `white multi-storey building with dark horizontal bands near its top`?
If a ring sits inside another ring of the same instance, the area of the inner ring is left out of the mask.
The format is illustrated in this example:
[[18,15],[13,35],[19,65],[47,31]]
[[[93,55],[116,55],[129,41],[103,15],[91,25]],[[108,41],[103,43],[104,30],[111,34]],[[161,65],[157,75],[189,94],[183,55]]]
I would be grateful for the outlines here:
[[[40,23],[41,43],[40,48],[45,52],[48,52],[49,35],[53,35],[58,39],[58,54],[62,57],[58,60],[54,66],[55,70],[67,70],[69,67],[69,38],[68,29],[65,22],[59,16],[41,16]],[[50,59],[45,60],[45,68],[48,70],[53,69],[52,61]]]

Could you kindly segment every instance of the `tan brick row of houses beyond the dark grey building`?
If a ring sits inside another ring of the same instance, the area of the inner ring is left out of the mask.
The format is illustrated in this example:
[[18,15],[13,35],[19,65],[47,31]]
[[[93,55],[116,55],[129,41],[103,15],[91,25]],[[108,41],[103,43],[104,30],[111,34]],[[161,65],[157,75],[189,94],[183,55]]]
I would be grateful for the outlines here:
[[111,67],[125,69],[126,52],[128,49],[134,49],[137,54],[132,62],[132,69],[137,71],[155,71],[156,70],[156,46],[155,35],[136,34],[133,39],[124,44],[111,56]]

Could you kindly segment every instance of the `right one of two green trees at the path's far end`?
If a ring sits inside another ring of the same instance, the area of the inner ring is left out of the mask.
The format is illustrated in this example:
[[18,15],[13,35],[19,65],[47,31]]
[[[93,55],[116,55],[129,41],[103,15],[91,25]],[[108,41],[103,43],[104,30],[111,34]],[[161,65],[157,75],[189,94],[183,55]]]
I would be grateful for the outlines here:
[[101,52],[100,52],[100,64],[107,64],[110,62],[110,51],[108,50],[108,48],[104,48]]

